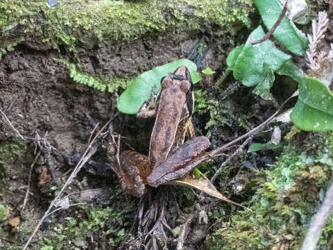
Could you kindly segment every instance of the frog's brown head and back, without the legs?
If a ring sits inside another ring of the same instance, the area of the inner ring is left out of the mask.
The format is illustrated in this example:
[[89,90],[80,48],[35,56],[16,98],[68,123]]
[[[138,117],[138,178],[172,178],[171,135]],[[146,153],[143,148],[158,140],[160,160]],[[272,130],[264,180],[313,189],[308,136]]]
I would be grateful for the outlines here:
[[[181,78],[184,80],[178,80]],[[185,66],[178,67],[176,72],[162,81],[148,156],[154,167],[166,160],[171,149],[182,142],[185,124],[191,119],[187,106],[187,96],[192,94],[191,85],[191,76]]]

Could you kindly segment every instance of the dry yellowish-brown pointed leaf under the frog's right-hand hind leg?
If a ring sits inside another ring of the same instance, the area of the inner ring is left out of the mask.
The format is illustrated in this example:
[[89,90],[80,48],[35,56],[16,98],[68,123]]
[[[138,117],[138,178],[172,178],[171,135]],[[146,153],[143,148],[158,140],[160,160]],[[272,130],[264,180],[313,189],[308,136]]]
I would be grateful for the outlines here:
[[[197,190],[203,191],[206,194],[212,195],[212,197],[216,197],[223,201],[226,201],[226,202],[232,203],[234,205],[241,206],[242,208],[245,208],[247,210],[250,210],[249,208],[246,208],[245,206],[243,206],[237,202],[234,202],[234,201],[228,199],[227,197],[223,196],[223,194],[221,194],[218,190],[216,190],[214,185],[210,182],[210,180],[207,179],[207,177],[204,174],[200,173],[200,175],[201,175],[200,178],[195,178],[190,172],[189,174],[180,178],[179,180],[171,181],[168,184],[182,185],[182,186],[187,186],[190,188],[196,188]],[[250,210],[250,211],[252,212],[252,210]]]

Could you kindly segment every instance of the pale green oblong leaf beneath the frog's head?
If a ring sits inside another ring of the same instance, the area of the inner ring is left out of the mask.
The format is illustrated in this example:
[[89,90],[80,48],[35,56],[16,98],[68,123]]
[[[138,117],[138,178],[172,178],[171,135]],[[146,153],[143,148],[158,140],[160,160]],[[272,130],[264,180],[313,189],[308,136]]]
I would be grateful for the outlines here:
[[160,92],[162,77],[174,72],[181,65],[189,69],[193,83],[198,83],[201,80],[200,74],[196,72],[196,64],[187,59],[180,59],[155,67],[137,76],[133,83],[121,94],[117,101],[118,110],[121,113],[136,114],[152,93],[157,95]]

